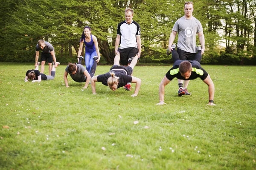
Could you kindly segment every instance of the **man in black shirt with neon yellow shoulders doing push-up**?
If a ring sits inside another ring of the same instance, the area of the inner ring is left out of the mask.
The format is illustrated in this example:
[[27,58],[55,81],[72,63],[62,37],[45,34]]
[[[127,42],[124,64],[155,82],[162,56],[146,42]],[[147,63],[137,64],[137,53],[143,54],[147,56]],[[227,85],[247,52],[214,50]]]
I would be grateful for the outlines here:
[[191,80],[196,79],[198,77],[203,80],[205,84],[209,87],[209,102],[207,105],[215,105],[213,103],[214,98],[214,84],[212,82],[212,79],[210,78],[209,74],[201,67],[200,61],[201,57],[196,57],[195,60],[180,60],[179,54],[175,50],[175,48],[172,50],[172,59],[173,59],[173,67],[166,73],[165,77],[163,77],[163,80],[161,81],[159,85],[159,103],[156,105],[166,105],[164,102],[164,88],[166,85],[169,84],[169,82],[172,81],[175,77],[177,79],[183,79],[183,80]]

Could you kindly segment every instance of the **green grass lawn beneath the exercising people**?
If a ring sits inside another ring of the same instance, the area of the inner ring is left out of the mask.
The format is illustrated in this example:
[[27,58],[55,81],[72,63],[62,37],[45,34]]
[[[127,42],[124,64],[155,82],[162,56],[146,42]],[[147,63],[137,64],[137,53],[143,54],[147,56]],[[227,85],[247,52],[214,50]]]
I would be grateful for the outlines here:
[[[96,75],[111,66],[99,65]],[[139,95],[55,79],[24,82],[33,64],[0,63],[1,170],[255,170],[256,67],[203,65],[215,84],[191,80],[192,96],[177,96],[177,79],[157,106],[158,86],[171,66],[137,66]],[[48,66],[46,66],[48,72]],[[135,87],[135,85],[132,85]],[[134,121],[139,123],[134,124]],[[8,126],[9,128],[3,128]]]

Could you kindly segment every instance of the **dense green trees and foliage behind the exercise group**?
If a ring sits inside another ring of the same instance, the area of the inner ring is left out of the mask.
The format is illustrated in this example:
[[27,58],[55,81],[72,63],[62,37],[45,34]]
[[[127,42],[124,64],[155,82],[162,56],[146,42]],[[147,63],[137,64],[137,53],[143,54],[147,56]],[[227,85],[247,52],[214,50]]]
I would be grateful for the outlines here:
[[[142,29],[143,62],[172,62],[165,51],[180,0],[0,0],[0,61],[31,62],[40,39],[52,43],[58,61],[75,62],[84,26],[99,42],[101,62],[114,58],[116,26],[134,9]],[[256,0],[199,0],[193,16],[204,27],[203,63],[256,64]],[[198,41],[199,42],[199,41]]]

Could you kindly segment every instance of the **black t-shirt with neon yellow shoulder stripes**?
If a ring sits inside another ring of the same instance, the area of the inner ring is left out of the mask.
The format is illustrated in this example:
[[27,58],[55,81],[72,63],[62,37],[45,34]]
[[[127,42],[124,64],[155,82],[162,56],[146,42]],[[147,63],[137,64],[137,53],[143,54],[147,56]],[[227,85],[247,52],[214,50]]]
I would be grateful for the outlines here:
[[175,77],[177,79],[183,79],[183,80],[191,80],[191,79],[196,79],[200,77],[201,80],[204,80],[207,78],[208,73],[201,67],[200,63],[195,60],[187,60],[191,63],[192,65],[192,71],[191,75],[188,79],[185,79],[184,77],[181,76],[180,71],[179,71],[179,65],[181,62],[184,60],[177,60],[174,64],[173,67],[166,73],[166,78],[172,81]]

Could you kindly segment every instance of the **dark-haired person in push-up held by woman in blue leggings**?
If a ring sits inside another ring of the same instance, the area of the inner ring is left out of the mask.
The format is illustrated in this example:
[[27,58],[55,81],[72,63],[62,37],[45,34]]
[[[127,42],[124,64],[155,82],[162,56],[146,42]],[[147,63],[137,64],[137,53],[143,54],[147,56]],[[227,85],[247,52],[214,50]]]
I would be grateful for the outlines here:
[[[81,59],[82,58],[80,57],[79,63],[81,63]],[[67,68],[65,69],[64,76],[63,76],[66,88],[69,88],[68,81],[67,81],[67,74],[70,74],[70,77],[75,82],[85,82],[85,85],[83,88],[87,88],[90,82],[90,78],[93,77],[93,75],[95,74],[97,63],[98,63],[97,59],[98,57],[94,58],[94,63],[92,68],[90,69],[90,73],[81,64],[69,63]]]

